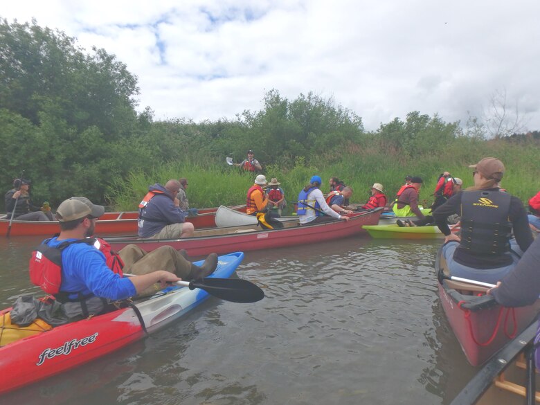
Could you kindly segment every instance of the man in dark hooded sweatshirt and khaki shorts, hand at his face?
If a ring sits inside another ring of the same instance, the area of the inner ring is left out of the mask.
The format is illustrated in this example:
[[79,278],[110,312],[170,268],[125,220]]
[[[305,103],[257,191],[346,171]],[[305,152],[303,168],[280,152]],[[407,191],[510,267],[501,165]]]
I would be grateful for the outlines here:
[[177,239],[190,237],[195,228],[186,222],[187,211],[180,208],[177,198],[181,184],[169,180],[165,187],[156,183],[148,188],[147,195],[138,205],[138,235],[151,239]]

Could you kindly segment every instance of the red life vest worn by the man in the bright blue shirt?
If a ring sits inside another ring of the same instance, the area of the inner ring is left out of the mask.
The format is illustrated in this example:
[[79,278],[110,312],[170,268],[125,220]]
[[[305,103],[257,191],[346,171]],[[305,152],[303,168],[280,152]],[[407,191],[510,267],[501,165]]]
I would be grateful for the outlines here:
[[99,249],[105,255],[107,267],[114,271],[114,273],[118,273],[120,276],[123,275],[122,268],[124,262],[105,240],[100,238],[71,240],[62,242],[55,247],[48,246],[48,241],[44,241],[32,252],[32,258],[30,258],[29,263],[30,281],[47,294],[60,293],[60,286],[62,285],[62,251],[75,243],[86,243],[96,246],[96,249]]

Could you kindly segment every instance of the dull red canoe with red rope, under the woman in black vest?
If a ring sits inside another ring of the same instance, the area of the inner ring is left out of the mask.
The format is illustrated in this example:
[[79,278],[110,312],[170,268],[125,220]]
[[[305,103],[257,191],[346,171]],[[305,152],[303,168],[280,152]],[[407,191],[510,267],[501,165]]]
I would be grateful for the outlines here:
[[439,296],[453,333],[472,366],[479,366],[525,330],[537,317],[540,300],[528,307],[507,308],[486,294],[487,287],[447,280],[440,252],[435,262]]

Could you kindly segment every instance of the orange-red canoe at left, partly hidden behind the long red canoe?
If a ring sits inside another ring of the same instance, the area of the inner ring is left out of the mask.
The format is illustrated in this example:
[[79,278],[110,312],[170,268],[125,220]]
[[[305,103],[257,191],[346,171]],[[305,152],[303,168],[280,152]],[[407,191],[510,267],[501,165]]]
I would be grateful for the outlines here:
[[[233,206],[234,210],[245,212],[246,206]],[[191,222],[195,229],[215,227],[216,208],[202,208],[199,215],[187,217],[186,221]],[[132,235],[137,233],[137,211],[126,211],[123,213],[105,213],[96,221],[96,235],[110,235],[111,233],[125,233]],[[9,219],[0,219],[0,235],[8,232]],[[11,224],[11,236],[22,235],[54,235],[59,231],[56,221],[17,221],[14,219]]]

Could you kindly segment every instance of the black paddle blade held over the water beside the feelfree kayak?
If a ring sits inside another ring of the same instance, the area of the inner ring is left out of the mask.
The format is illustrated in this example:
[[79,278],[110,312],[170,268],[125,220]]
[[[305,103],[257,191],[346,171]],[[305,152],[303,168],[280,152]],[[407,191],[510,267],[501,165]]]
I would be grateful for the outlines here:
[[264,291],[253,282],[237,278],[203,278],[190,282],[190,289],[204,289],[222,300],[231,303],[256,303],[264,298]]

